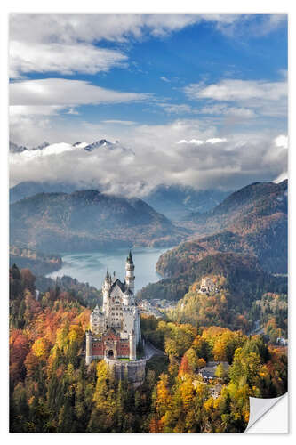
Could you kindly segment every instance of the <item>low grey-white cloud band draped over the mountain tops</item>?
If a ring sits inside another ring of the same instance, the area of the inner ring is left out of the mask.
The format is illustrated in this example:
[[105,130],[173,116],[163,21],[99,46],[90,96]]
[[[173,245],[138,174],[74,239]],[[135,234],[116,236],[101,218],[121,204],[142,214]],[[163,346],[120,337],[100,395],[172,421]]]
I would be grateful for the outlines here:
[[[170,131],[173,133],[172,128]],[[190,139],[189,143],[177,143],[177,139],[162,144],[140,138],[140,128],[133,132],[133,143],[128,147],[114,143],[87,152],[82,146],[55,144],[34,153],[12,154],[12,185],[22,181],[75,182],[77,188],[83,184],[144,197],[159,184],[234,190],[250,182],[272,181],[287,169],[287,150],[283,143],[279,145],[278,137],[199,137],[195,138],[198,143]]]

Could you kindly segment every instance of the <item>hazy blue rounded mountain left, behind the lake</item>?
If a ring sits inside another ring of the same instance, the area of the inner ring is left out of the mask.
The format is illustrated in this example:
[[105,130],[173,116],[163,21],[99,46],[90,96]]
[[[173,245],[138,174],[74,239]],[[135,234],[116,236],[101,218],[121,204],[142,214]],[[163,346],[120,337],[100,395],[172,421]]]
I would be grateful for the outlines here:
[[144,201],[98,190],[40,193],[10,206],[11,244],[45,253],[172,246],[185,235]]

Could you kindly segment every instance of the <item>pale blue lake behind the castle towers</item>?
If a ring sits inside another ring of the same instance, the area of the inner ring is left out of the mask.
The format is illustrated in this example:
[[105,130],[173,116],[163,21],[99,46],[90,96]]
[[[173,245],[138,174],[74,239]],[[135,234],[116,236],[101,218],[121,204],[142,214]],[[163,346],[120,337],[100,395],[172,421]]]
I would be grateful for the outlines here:
[[[172,247],[170,247],[172,248]],[[133,247],[132,258],[135,266],[135,290],[138,291],[148,283],[155,283],[162,277],[156,272],[156,263],[167,248]],[[59,271],[47,275],[55,279],[68,275],[78,281],[89,283],[100,288],[106,271],[113,273],[124,281],[124,265],[128,249],[116,249],[99,252],[72,253],[61,255],[63,265]]]

